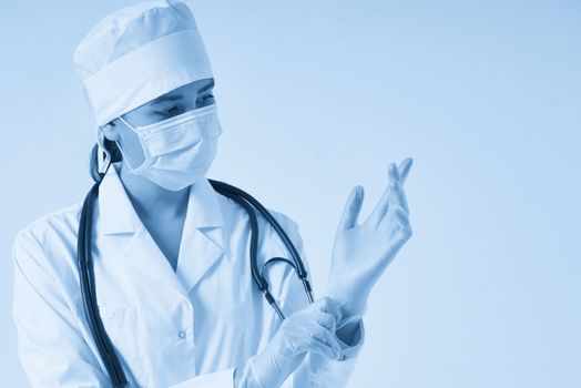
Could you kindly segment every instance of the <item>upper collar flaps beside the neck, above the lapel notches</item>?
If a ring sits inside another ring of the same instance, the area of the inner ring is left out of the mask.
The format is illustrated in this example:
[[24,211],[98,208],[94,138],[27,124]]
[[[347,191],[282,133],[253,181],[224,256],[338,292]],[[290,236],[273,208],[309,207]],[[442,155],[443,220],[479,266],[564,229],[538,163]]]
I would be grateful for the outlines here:
[[[134,233],[141,225],[119,177],[120,167],[121,162],[112,163],[99,187],[100,218],[104,235]],[[194,227],[224,226],[218,193],[214,191],[207,178],[204,177],[191,186],[187,213],[187,222]]]

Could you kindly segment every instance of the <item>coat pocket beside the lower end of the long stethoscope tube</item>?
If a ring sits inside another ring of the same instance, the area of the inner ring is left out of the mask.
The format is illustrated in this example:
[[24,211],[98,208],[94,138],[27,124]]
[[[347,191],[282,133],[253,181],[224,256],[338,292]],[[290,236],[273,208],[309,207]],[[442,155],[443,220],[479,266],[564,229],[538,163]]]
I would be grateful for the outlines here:
[[134,306],[100,306],[99,314],[128,379],[143,381]]

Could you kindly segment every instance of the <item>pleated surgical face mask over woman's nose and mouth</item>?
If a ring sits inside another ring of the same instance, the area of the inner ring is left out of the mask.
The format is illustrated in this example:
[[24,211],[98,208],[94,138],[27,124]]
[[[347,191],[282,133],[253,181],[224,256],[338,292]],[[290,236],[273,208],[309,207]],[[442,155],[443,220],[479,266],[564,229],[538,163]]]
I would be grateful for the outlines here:
[[118,143],[130,173],[170,191],[187,187],[205,176],[222,133],[215,103],[150,125],[134,127],[120,120],[135,132],[144,154],[143,163],[132,166]]

